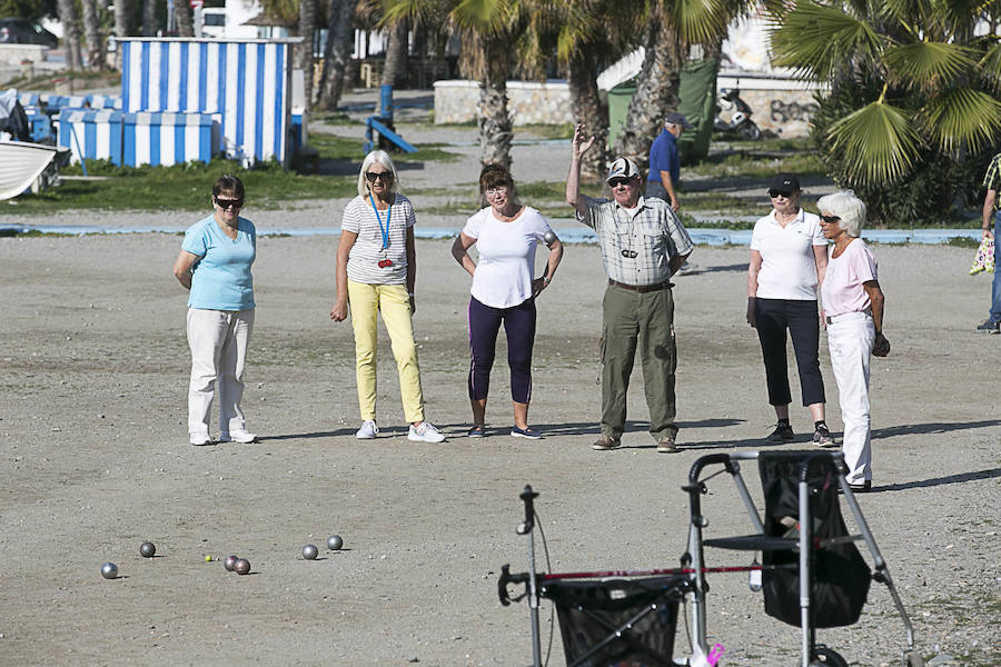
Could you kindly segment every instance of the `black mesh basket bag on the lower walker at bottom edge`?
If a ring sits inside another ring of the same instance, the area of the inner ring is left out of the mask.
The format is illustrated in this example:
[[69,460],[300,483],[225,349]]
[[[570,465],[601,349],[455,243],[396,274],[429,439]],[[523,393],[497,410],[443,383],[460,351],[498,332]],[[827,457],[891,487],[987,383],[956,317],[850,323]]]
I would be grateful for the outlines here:
[[[566,664],[673,667],[677,606],[685,583],[685,577],[547,581],[542,595],[556,605]],[[652,605],[656,609],[615,636],[616,630]],[[588,656],[609,638],[608,644]]]

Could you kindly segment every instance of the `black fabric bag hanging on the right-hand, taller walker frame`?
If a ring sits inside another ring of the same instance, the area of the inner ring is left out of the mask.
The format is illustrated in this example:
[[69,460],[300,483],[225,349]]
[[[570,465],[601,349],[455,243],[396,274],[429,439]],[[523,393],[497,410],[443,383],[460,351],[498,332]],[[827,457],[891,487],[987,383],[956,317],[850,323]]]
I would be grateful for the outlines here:
[[[800,520],[800,472],[812,452],[762,452],[759,457],[765,497],[765,534],[791,536]],[[838,476],[834,461],[816,458],[811,462],[810,514],[813,537],[826,539],[849,534],[838,501]],[[795,519],[796,525],[787,525]],[[786,519],[783,522],[783,519]],[[799,564],[796,551],[764,551],[763,565]],[[854,542],[839,542],[817,549],[813,555],[812,607],[813,627],[834,628],[859,620],[872,571]],[[762,573],[765,613],[789,625],[800,626],[800,571],[765,569]]]

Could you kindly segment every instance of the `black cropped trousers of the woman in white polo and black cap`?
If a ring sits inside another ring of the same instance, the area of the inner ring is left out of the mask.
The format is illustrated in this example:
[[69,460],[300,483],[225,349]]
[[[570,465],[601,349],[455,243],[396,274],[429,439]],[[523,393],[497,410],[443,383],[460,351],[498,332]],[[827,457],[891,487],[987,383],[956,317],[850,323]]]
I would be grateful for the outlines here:
[[826,402],[824,379],[820,372],[820,318],[816,301],[793,299],[755,299],[754,317],[761,354],[769,382],[769,404],[792,402],[789,390],[789,365],[785,360],[786,330],[793,339],[803,405]]

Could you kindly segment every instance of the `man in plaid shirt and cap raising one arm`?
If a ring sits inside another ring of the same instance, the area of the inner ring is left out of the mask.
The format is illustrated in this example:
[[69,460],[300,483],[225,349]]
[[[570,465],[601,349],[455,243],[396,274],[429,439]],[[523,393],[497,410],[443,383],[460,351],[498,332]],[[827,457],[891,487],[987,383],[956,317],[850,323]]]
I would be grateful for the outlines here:
[[602,437],[593,449],[622,444],[626,394],[636,348],[643,366],[650,432],[657,451],[677,451],[674,424],[674,298],[671,276],[692,252],[692,239],[671,205],[643,198],[642,175],[627,158],[612,162],[612,199],[581,195],[581,156],[594,143],[584,126],[574,129],[573,153],[566,178],[566,201],[577,220],[593,228],[602,249],[608,287],[602,302]]

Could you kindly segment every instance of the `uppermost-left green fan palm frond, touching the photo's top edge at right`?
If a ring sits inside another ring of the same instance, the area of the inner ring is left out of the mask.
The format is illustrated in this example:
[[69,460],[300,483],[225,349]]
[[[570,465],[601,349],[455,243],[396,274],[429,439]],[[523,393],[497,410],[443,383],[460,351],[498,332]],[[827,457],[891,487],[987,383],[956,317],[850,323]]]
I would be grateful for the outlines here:
[[866,21],[805,0],[784,21],[772,23],[771,36],[772,63],[814,79],[831,79],[854,54],[875,60],[884,48]]

